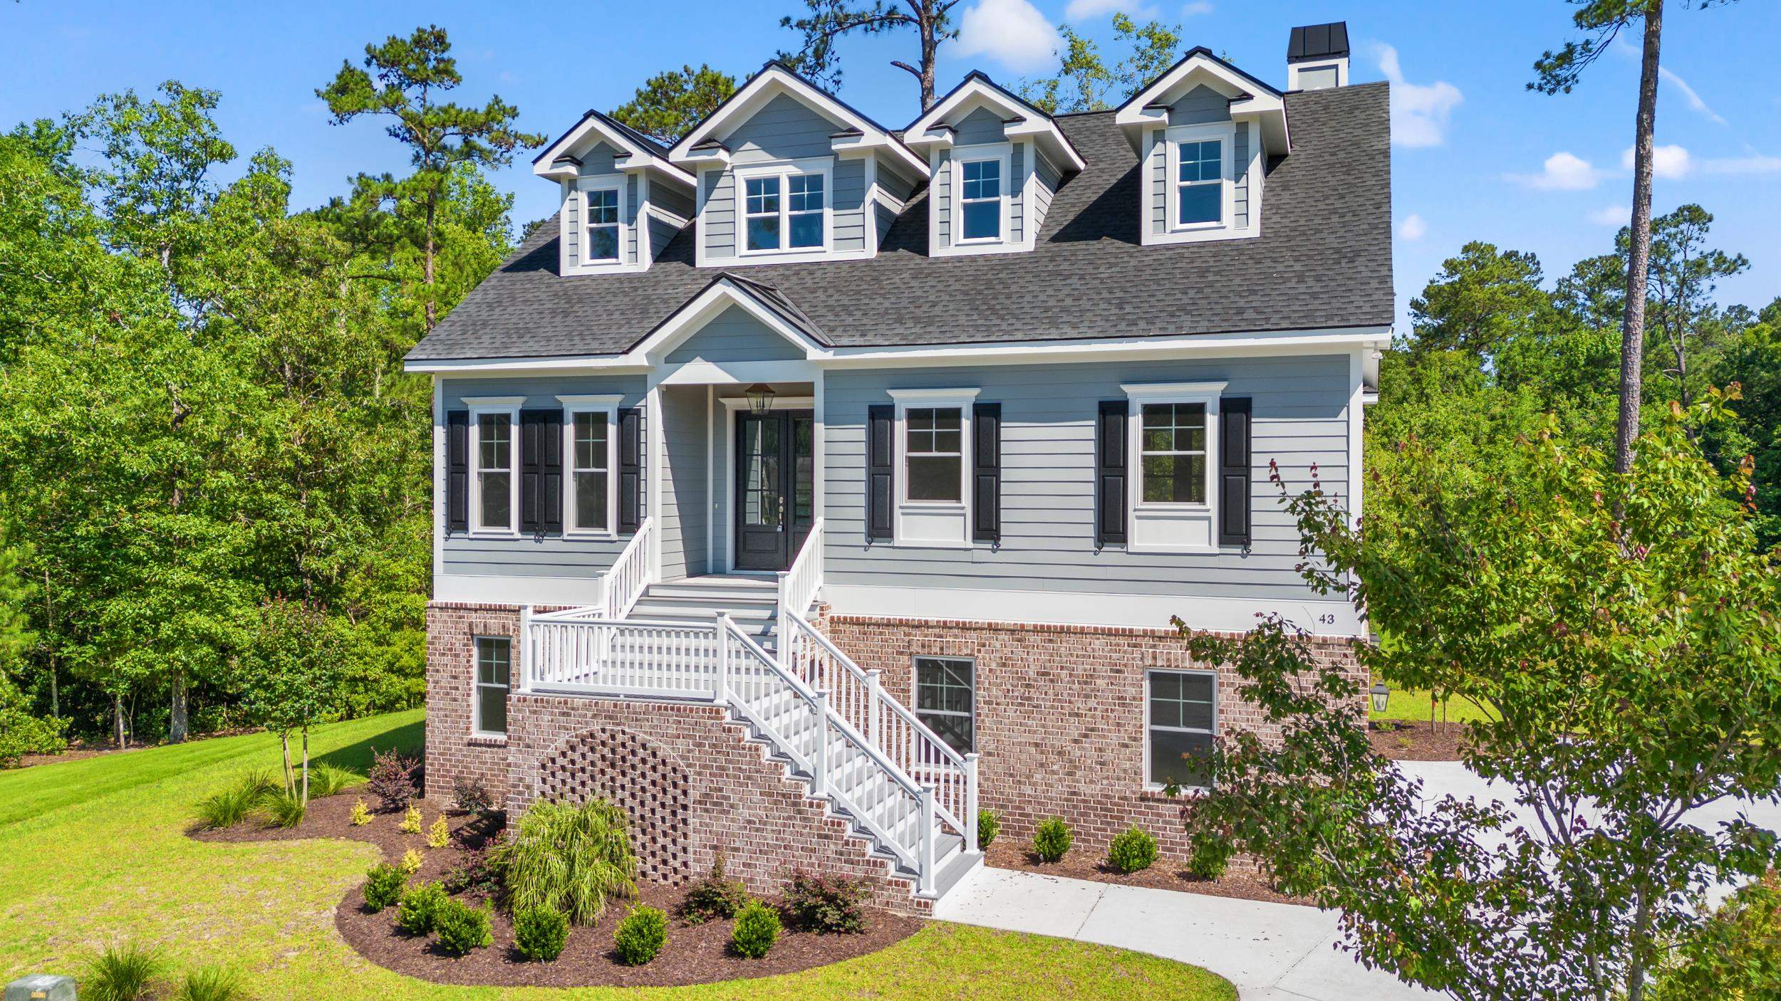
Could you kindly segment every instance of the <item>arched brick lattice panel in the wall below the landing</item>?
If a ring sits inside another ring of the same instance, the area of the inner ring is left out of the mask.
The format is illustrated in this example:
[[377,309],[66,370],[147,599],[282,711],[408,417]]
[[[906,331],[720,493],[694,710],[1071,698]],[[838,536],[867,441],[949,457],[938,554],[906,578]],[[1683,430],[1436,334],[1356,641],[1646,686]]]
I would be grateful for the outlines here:
[[538,796],[581,803],[604,796],[630,816],[638,875],[682,883],[693,871],[686,769],[654,741],[613,727],[565,737],[538,766]]

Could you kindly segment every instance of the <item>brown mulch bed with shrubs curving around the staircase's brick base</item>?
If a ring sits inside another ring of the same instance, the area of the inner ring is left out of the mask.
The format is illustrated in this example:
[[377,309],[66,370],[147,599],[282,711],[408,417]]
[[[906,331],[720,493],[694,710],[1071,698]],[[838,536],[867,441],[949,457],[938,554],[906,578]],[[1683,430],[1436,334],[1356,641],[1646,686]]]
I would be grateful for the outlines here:
[[[452,839],[447,848],[426,848],[424,834],[401,834],[401,814],[376,814],[365,826],[353,826],[353,802],[358,791],[347,791],[326,800],[312,800],[308,816],[296,828],[262,828],[249,821],[219,832],[192,832],[199,841],[294,841],[305,837],[344,837],[363,841],[383,850],[385,859],[399,862],[410,848],[424,855],[420,871],[410,885],[442,880],[483,851],[497,835],[499,821],[486,823],[468,814],[447,812]],[[422,826],[433,825],[442,809],[438,803],[417,802],[424,814]],[[335,928],[362,956],[370,962],[433,983],[483,987],[679,987],[689,983],[716,983],[755,976],[777,976],[810,967],[828,965],[866,953],[874,953],[914,935],[923,926],[919,917],[869,912],[867,926],[858,935],[816,935],[794,932],[787,924],[773,951],[759,960],[730,953],[730,921],[689,926],[675,910],[686,896],[682,887],[639,883],[639,901],[670,914],[668,944],[648,965],[627,967],[613,956],[613,930],[623,921],[632,901],[611,901],[606,914],[591,928],[570,928],[568,946],[550,964],[522,958],[513,949],[513,921],[495,908],[495,944],[476,949],[468,956],[452,958],[438,951],[429,937],[408,935],[395,924],[395,908],[369,914],[360,887],[354,885],[335,908]],[[463,894],[470,903],[483,898],[474,891]]]

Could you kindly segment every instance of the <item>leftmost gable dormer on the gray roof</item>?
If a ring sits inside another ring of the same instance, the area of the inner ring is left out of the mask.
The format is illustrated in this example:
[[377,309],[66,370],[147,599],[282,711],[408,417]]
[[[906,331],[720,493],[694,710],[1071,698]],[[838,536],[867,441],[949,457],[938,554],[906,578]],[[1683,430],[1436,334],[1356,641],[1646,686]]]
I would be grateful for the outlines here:
[[648,271],[693,216],[693,176],[668,150],[590,110],[533,160],[563,189],[559,274]]

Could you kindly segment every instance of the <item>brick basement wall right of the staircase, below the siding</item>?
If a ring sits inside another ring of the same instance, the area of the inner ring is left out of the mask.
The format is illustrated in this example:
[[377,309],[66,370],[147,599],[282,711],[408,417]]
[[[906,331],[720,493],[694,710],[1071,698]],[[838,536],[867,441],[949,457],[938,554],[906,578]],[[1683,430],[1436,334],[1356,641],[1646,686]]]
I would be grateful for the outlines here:
[[[883,671],[885,689],[910,707],[915,657],[976,663],[978,796],[1001,814],[1001,837],[1029,841],[1042,818],[1061,816],[1078,851],[1104,855],[1136,823],[1165,855],[1186,857],[1179,802],[1143,787],[1145,671],[1209,670],[1175,631],[819,613],[830,639],[862,668]],[[1316,661],[1361,677],[1348,639],[1314,638],[1311,648]],[[1216,671],[1218,732],[1279,737],[1257,705],[1238,700],[1236,671]]]

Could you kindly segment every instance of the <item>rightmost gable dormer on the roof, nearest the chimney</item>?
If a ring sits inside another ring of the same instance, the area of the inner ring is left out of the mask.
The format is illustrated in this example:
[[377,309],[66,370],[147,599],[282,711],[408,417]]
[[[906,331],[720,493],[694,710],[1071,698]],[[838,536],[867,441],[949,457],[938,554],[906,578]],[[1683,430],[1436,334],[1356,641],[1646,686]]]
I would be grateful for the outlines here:
[[1145,244],[1261,235],[1268,159],[1291,150],[1281,91],[1195,48],[1113,121],[1138,153]]

